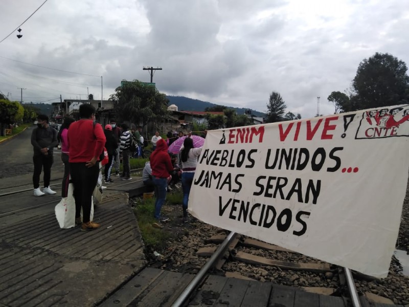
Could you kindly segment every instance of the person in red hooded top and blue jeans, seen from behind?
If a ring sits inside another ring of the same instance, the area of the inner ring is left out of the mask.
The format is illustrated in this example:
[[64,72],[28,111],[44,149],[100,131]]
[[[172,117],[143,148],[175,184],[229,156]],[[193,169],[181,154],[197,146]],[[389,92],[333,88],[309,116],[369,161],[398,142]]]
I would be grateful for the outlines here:
[[166,216],[161,216],[162,205],[166,200],[166,186],[168,185],[169,174],[173,171],[173,164],[168,153],[168,145],[164,139],[159,139],[156,149],[150,155],[150,166],[152,168],[152,181],[155,185],[155,218],[161,222],[169,220]]

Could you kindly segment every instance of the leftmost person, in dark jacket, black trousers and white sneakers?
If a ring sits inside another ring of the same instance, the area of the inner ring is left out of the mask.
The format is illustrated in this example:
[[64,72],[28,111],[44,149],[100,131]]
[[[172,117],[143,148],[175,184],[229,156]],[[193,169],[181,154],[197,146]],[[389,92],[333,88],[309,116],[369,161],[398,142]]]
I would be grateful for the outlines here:
[[[56,192],[50,188],[51,166],[53,165],[53,150],[57,146],[57,130],[49,125],[47,115],[37,116],[37,128],[33,129],[31,134],[31,145],[33,145],[34,155],[34,173],[33,186],[34,196],[42,196],[44,194],[55,194]],[[44,171],[43,182],[44,188],[40,190],[40,174]]]

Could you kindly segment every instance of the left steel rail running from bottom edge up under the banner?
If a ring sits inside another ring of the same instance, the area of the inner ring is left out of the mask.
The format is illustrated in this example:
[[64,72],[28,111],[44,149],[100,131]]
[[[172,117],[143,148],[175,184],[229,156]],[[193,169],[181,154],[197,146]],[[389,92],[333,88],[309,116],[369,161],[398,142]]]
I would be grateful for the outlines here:
[[205,277],[207,271],[213,266],[214,262],[219,258],[221,254],[224,253],[225,249],[229,246],[232,240],[236,237],[235,232],[231,232],[222,242],[222,244],[217,248],[212,257],[206,262],[205,266],[197,273],[196,277],[188,284],[186,289],[179,295],[179,297],[173,302],[172,307],[181,306],[191,295],[191,293],[196,289],[198,284]]

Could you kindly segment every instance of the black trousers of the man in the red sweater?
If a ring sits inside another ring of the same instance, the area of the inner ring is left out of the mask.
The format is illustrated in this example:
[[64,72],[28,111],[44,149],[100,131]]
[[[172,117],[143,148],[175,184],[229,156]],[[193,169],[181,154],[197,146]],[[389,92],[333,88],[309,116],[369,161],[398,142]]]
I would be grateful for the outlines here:
[[82,222],[89,222],[91,202],[95,186],[98,182],[99,163],[86,167],[83,163],[70,163],[71,180],[74,185],[75,217],[80,217],[82,207]]

